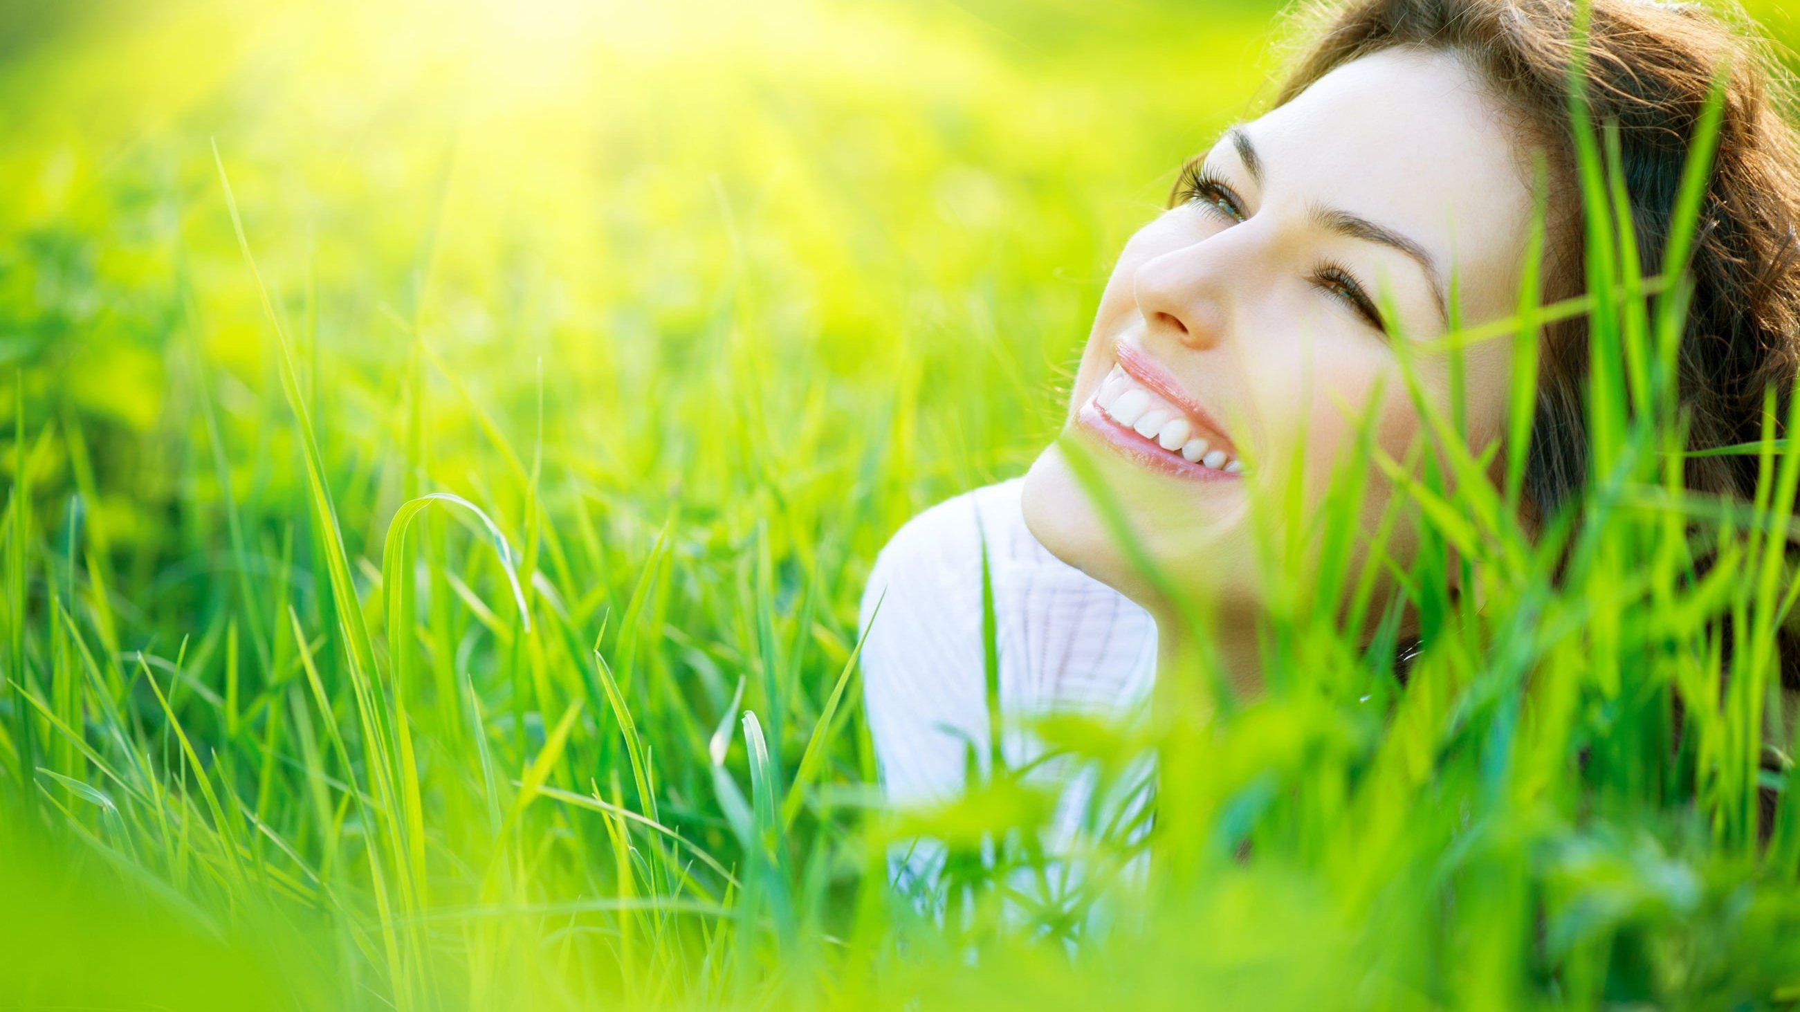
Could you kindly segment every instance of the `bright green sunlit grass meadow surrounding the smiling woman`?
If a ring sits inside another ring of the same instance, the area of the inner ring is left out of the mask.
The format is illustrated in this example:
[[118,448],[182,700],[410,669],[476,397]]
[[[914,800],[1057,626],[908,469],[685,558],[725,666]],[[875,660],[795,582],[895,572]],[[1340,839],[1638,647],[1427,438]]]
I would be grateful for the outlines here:
[[1620,508],[1404,691],[1289,616],[1148,899],[889,888],[868,565],[1055,432],[1273,14],[0,7],[0,1007],[1793,1007],[1778,686],[1681,650],[1787,614],[1757,522],[1688,589]]

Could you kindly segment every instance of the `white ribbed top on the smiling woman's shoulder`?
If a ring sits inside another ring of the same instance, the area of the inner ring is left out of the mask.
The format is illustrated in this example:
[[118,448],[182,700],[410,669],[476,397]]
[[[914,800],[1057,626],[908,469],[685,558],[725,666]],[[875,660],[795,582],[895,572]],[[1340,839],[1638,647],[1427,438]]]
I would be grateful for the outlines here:
[[[954,798],[970,744],[986,769],[983,535],[1006,764],[1017,769],[1042,753],[1019,718],[1069,709],[1125,718],[1148,700],[1156,623],[1031,537],[1022,484],[1003,481],[940,502],[907,520],[875,558],[862,592],[862,681],[882,789],[895,805]],[[1071,782],[1058,823],[1084,803],[1082,785]]]

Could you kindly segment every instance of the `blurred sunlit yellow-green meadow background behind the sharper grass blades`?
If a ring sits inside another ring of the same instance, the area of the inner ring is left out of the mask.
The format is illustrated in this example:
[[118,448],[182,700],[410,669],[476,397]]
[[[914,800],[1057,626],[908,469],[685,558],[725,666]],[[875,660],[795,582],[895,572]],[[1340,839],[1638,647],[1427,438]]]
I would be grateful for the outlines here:
[[27,430],[79,418],[135,576],[191,558],[176,504],[218,497],[202,384],[243,508],[290,502],[216,144],[329,454],[358,461],[351,528],[392,506],[414,337],[472,398],[430,371],[450,490],[497,465],[473,405],[531,443],[542,362],[545,495],[608,524],[661,524],[677,483],[743,517],[850,475],[922,504],[1044,441],[1118,245],[1251,108],[1271,11],[9,5],[4,357]]

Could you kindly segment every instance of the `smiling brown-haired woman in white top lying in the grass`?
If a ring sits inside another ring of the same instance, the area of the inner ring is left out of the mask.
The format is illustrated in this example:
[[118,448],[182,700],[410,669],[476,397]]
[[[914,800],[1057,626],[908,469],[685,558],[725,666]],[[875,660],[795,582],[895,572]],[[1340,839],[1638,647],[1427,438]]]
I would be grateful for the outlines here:
[[[983,544],[1003,715],[1129,711],[1154,679],[1175,677],[1188,636],[1177,603],[1195,592],[1215,601],[1195,634],[1233,686],[1255,693],[1267,589],[1251,553],[1253,483],[1280,472],[1318,502],[1359,416],[1379,454],[1408,459],[1422,421],[1400,355],[1429,348],[1454,321],[1480,328],[1516,313],[1535,166],[1546,207],[1541,295],[1582,292],[1573,5],[1352,0],[1309,23],[1310,45],[1274,106],[1183,169],[1170,207],[1120,254],[1062,439],[1022,481],[927,510],[877,560],[864,673],[895,801],[952,796],[968,756],[986,764]],[[1618,124],[1645,265],[1661,263],[1688,144],[1715,74],[1728,72],[1679,337],[1690,448],[1759,439],[1764,389],[1786,398],[1796,371],[1800,149],[1771,97],[1771,67],[1755,41],[1699,7],[1591,2],[1588,103],[1593,122]],[[1543,328],[1539,348],[1528,526],[1575,501],[1588,468],[1586,322]],[[1445,411],[1453,357],[1411,358],[1426,398]],[[1510,342],[1467,346],[1462,369],[1469,445],[1501,441]],[[1147,578],[1121,551],[1071,456],[1091,461],[1103,497],[1172,583]],[[1494,456],[1492,481],[1505,459]],[[1742,456],[1690,457],[1685,479],[1748,497],[1755,466]],[[1364,535],[1390,497],[1390,484],[1370,483]],[[1404,522],[1386,542],[1402,567],[1413,544]],[[1037,751],[1019,731],[1001,749],[1010,765]]]

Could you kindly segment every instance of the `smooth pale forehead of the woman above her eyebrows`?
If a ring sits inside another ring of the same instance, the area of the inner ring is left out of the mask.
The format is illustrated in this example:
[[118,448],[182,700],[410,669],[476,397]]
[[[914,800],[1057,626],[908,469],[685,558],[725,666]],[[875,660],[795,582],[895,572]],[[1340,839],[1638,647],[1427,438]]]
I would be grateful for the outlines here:
[[1514,128],[1458,58],[1390,49],[1354,59],[1244,130],[1267,202],[1361,214],[1454,265],[1471,299],[1483,279],[1510,299],[1532,194]]

